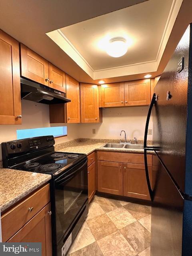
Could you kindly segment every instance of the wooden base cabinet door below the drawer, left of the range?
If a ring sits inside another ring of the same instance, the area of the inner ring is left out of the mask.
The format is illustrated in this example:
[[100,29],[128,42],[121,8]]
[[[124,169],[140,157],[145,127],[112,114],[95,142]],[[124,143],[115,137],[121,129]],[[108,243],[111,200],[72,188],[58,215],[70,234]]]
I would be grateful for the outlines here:
[[7,242],[41,242],[42,256],[52,256],[50,203]]

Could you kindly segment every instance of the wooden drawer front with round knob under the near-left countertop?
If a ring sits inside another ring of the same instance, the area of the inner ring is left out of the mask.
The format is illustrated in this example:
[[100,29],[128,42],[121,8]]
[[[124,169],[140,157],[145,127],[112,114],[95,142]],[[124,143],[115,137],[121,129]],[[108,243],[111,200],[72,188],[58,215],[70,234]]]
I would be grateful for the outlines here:
[[[32,217],[34,217],[46,204],[50,202],[50,185],[40,188],[20,204],[2,215],[2,241],[6,242]],[[29,208],[32,208],[30,211]]]

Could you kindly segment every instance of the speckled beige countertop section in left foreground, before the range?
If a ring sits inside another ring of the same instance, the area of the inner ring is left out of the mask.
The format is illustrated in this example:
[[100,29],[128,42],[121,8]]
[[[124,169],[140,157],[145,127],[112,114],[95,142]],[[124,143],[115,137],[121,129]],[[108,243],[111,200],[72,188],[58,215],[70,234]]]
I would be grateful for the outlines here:
[[0,211],[3,212],[51,179],[49,174],[0,169]]

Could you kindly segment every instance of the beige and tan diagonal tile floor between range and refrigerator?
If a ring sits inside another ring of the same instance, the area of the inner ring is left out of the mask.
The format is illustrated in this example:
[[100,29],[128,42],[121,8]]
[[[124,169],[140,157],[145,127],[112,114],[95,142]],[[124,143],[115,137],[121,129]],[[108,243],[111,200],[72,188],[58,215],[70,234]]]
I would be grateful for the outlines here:
[[68,256],[150,256],[151,208],[94,196]]

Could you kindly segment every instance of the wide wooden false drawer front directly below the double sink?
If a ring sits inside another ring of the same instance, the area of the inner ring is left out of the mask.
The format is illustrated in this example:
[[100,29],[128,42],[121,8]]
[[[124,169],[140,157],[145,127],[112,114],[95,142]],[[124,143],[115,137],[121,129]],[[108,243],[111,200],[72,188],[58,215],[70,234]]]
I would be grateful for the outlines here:
[[[144,154],[118,153],[118,152],[97,152],[97,160],[130,163],[130,164],[144,164]],[[147,156],[148,164],[152,165],[152,155]]]

